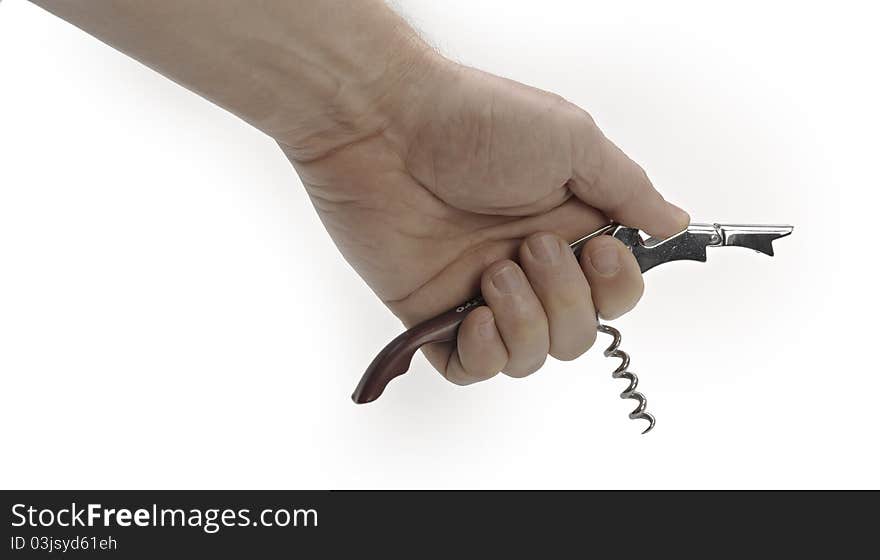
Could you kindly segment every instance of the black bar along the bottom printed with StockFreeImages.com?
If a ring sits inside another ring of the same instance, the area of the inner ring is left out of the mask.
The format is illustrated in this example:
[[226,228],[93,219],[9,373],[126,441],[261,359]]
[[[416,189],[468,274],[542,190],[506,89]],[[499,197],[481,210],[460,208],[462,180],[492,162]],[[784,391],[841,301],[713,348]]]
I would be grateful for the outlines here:
[[[878,504],[876,492],[15,490],[0,492],[0,558],[471,557],[475,545],[541,558],[842,558],[874,539]],[[85,526],[58,525],[76,515]]]

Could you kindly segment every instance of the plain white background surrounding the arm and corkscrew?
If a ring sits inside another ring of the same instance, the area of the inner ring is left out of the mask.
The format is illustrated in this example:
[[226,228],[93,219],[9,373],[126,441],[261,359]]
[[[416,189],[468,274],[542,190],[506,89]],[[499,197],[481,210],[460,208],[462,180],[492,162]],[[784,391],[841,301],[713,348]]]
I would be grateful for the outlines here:
[[880,487],[877,14],[824,4],[398,3],[696,220],[796,226],[646,276],[640,436],[599,348],[469,388],[419,357],[352,404],[400,326],[274,143],[3,2],[0,486]]

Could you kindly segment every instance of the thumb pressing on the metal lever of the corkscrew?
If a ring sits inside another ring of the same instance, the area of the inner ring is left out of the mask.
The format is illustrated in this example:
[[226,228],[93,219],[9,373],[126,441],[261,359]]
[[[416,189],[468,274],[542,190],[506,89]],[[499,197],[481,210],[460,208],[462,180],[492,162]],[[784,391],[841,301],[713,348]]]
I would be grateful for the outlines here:
[[651,235],[669,237],[690,216],[657,192],[645,171],[608,140],[585,111],[568,112],[572,138],[571,191],[606,216]]

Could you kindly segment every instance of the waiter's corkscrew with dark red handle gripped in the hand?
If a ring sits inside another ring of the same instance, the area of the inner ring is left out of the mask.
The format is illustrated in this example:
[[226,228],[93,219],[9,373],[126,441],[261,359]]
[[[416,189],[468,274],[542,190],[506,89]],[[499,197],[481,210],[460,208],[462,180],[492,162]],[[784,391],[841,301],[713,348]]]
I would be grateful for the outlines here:
[[[657,265],[672,261],[705,262],[706,249],[709,247],[745,247],[772,257],[773,241],[790,235],[793,230],[792,226],[785,225],[691,224],[672,237],[659,239],[644,238],[636,228],[610,223],[574,241],[569,247],[575,255],[579,255],[584,244],[590,239],[599,235],[611,235],[632,251],[641,271],[647,272]],[[352,395],[354,402],[363,404],[379,398],[392,379],[409,370],[416,350],[425,344],[455,340],[458,326],[464,318],[484,303],[482,297],[475,297],[458,307],[419,323],[392,340],[379,352],[364,372]],[[647,433],[654,427],[655,420],[651,414],[645,411],[647,407],[645,396],[636,391],[638,377],[628,371],[629,355],[620,350],[620,332],[604,324],[600,324],[598,330],[613,338],[611,345],[605,350],[605,356],[619,358],[621,364],[614,370],[612,376],[615,379],[629,381],[629,386],[620,396],[623,399],[633,399],[638,402],[638,406],[630,413],[629,417],[634,420],[647,420],[649,425],[642,432]]]

